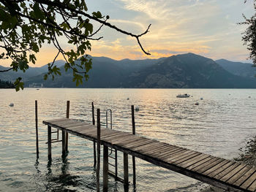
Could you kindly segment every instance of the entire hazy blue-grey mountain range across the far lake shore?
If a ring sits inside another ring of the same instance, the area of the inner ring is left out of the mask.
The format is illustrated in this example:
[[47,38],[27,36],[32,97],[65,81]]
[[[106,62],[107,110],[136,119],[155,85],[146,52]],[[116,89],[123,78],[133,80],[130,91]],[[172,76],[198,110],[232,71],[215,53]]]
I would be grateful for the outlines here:
[[[215,62],[194,53],[146,60],[91,58],[93,65],[89,71],[89,81],[84,82],[80,88],[256,88],[256,80],[251,74],[249,77],[245,77],[248,73],[244,72],[235,74],[238,70],[231,72],[226,61]],[[26,86],[36,83],[44,87],[75,88],[72,71],[64,72],[65,62],[58,62],[60,77],[54,81],[42,80],[43,73],[48,69],[48,66],[42,66],[34,69],[42,75],[26,77]]]

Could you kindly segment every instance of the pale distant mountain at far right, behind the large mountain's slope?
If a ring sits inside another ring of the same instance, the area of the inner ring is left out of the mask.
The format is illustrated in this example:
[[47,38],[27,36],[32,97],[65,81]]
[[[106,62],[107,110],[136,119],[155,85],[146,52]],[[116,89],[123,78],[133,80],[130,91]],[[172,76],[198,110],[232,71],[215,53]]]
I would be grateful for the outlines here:
[[227,70],[227,72],[236,74],[241,77],[255,78],[256,68],[253,68],[252,64],[227,61],[225,59],[219,59],[215,62]]

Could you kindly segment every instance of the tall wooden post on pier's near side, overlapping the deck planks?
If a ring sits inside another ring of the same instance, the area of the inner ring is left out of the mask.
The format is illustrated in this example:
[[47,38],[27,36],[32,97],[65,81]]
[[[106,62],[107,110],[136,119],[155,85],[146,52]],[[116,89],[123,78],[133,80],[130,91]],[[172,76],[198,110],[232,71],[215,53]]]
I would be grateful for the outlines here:
[[99,192],[99,169],[100,169],[100,110],[97,109],[97,170],[96,170],[97,192]]

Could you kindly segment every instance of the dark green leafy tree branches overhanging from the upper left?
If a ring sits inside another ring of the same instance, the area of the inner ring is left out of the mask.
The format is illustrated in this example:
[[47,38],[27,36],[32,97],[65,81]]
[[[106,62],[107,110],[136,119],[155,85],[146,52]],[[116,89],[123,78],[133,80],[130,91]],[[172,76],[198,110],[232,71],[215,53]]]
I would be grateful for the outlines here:
[[[45,43],[53,44],[58,50],[53,62],[48,64],[48,76],[52,79],[61,75],[60,69],[54,65],[56,58],[63,55],[66,64],[65,70],[72,70],[73,81],[79,85],[89,78],[91,58],[86,55],[91,50],[91,40],[99,40],[95,37],[102,26],[113,28],[122,34],[134,37],[138,41],[141,50],[146,52],[140,44],[140,37],[148,33],[148,28],[142,34],[132,34],[108,23],[109,16],[101,12],[88,13],[85,0],[0,0],[0,47],[4,50],[0,54],[1,59],[11,58],[10,69],[17,72],[26,72],[29,62],[36,64],[38,53]],[[100,24],[94,30],[92,21]],[[64,50],[60,45],[65,41],[72,48]],[[18,78],[15,82],[16,91],[23,89],[23,82]]]

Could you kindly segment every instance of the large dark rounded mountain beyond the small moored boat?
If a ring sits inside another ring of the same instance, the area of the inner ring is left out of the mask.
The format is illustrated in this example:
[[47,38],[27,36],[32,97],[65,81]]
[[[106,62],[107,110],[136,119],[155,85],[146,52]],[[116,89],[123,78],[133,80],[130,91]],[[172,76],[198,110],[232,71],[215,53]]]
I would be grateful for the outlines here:
[[256,80],[230,74],[210,58],[173,55],[131,74],[129,88],[256,88]]

